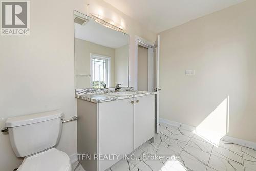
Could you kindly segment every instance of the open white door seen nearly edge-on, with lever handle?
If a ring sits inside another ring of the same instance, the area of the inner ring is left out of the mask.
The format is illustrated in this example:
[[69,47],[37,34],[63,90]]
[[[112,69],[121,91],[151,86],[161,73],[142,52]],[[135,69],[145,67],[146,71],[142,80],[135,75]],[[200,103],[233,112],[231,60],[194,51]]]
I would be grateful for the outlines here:
[[153,48],[153,90],[157,92],[155,95],[155,132],[158,133],[159,128],[159,57],[160,57],[160,36],[157,39]]

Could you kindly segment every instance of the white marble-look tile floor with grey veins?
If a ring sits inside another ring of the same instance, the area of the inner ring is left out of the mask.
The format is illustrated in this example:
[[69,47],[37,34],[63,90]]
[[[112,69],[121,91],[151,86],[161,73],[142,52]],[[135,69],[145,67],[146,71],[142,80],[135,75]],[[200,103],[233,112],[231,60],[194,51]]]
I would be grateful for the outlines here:
[[[253,149],[223,140],[213,145],[182,127],[159,125],[155,142],[146,142],[132,153],[136,160],[121,160],[106,171],[256,171]],[[152,160],[154,156],[179,158]],[[72,170],[84,171],[79,162],[72,165]]]

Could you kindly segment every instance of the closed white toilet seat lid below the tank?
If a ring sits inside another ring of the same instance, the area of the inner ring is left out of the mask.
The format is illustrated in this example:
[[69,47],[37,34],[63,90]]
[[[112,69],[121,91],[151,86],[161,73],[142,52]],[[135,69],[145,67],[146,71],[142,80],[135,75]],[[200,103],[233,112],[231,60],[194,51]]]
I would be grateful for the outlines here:
[[56,148],[25,157],[17,171],[71,171],[69,156]]

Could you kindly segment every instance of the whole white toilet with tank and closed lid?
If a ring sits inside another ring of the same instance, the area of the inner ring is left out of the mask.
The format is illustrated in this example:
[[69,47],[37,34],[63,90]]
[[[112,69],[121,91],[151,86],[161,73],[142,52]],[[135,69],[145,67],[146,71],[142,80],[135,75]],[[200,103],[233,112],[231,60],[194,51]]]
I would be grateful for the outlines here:
[[54,148],[61,135],[62,116],[56,110],[6,120],[14,153],[25,157],[18,171],[71,171],[69,156]]

